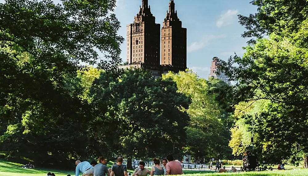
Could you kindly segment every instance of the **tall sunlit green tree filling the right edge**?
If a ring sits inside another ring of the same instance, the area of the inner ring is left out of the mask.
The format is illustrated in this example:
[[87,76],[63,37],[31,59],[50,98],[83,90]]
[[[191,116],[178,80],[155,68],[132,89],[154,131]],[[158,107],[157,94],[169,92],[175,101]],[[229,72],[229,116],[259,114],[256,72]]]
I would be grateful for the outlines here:
[[[220,69],[236,82],[236,102],[269,100],[257,116],[263,154],[280,162],[298,152],[307,154],[307,1],[253,1],[258,12],[240,16],[248,29],[243,37],[257,37],[243,58],[221,61]],[[263,37],[267,35],[267,37]],[[296,150],[292,150],[296,148]],[[307,157],[304,166],[308,167]]]

